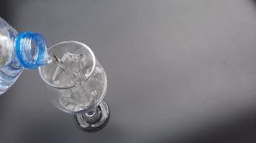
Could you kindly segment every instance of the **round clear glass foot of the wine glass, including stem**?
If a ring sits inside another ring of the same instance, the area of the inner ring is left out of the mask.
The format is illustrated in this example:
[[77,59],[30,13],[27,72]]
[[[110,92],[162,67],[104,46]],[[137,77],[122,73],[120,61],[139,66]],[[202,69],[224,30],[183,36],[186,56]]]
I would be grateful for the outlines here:
[[75,114],[76,124],[86,132],[96,132],[109,122],[109,106],[102,100],[96,109],[85,114]]

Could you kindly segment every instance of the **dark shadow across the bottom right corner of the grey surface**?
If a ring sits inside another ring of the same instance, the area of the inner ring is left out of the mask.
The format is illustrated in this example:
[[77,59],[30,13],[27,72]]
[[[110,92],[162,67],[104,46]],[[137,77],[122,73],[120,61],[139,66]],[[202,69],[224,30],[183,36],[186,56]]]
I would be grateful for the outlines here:
[[198,127],[195,132],[183,132],[175,139],[159,139],[157,142],[173,143],[251,143],[256,142],[256,112],[240,114],[237,118],[224,119],[219,124]]

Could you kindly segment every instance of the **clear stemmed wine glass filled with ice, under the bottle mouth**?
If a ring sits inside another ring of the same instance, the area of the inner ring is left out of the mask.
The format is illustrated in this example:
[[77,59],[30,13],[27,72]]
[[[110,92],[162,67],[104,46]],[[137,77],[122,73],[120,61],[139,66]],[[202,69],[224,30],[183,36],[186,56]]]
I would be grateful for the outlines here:
[[48,49],[52,62],[39,67],[39,73],[52,104],[74,114],[78,127],[96,132],[109,121],[106,73],[93,51],[78,41],[63,41]]

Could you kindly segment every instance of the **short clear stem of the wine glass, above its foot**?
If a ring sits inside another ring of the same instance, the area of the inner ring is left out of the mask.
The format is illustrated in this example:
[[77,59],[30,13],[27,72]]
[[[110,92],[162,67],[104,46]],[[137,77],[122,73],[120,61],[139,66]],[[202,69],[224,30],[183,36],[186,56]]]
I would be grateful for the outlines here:
[[101,119],[101,110],[97,107],[90,112],[82,114],[83,119],[88,123],[96,123]]

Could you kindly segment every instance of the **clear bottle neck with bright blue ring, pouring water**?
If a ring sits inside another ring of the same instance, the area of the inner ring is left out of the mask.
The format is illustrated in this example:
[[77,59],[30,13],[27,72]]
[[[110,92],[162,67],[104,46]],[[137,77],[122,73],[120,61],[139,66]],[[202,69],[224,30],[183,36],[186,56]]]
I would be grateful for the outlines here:
[[50,60],[45,38],[41,34],[23,32],[17,35],[14,52],[25,69],[35,69]]

